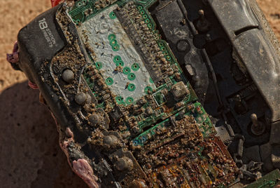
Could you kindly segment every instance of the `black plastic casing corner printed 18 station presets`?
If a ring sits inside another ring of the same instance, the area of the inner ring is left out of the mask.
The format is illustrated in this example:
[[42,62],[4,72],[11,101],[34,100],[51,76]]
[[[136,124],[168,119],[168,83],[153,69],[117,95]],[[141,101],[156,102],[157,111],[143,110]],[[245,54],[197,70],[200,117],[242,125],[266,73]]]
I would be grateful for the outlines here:
[[[19,66],[32,83],[36,83],[50,110],[61,125],[71,124],[68,114],[53,89],[40,78],[41,65],[50,62],[62,51],[66,39],[56,20],[56,13],[62,5],[55,6],[38,15],[18,33]],[[66,117],[67,116],[67,117]]]

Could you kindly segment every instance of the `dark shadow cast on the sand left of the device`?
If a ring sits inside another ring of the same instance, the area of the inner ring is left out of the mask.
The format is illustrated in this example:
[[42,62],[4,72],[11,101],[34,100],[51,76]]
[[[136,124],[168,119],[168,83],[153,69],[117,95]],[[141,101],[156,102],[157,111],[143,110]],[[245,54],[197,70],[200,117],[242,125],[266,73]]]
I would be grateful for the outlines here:
[[38,93],[27,81],[0,93],[0,187],[87,187],[71,171]]

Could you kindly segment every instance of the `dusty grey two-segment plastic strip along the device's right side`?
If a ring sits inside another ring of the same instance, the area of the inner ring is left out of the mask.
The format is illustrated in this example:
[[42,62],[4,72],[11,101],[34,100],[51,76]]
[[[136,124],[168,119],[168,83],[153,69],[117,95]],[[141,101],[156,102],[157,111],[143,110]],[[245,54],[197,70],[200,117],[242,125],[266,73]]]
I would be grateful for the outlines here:
[[279,121],[279,56],[262,28],[247,29],[235,36],[239,29],[258,25],[248,0],[209,0],[209,3],[230,37],[239,58],[244,62],[255,85],[272,110],[272,122]]

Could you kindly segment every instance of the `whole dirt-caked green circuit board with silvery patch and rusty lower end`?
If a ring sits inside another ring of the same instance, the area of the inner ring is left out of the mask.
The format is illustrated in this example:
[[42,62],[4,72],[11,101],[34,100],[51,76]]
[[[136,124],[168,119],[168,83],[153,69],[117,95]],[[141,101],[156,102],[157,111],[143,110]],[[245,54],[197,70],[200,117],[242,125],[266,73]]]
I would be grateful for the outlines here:
[[[84,79],[97,112],[106,112],[88,121],[109,122],[108,131],[117,132],[132,152],[126,163],[139,169],[115,172],[122,186],[132,180],[149,187],[228,186],[239,170],[162,39],[148,11],[154,3],[80,0],[67,8],[90,60]],[[92,130],[91,144],[100,149],[106,134]],[[118,152],[104,155],[113,162]]]

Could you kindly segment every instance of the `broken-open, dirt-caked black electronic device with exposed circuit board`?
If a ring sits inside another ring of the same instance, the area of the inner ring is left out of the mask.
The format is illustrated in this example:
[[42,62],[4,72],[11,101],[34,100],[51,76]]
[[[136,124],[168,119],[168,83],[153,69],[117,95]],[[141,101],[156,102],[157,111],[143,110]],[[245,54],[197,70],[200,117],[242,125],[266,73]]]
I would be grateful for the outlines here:
[[66,1],[20,30],[13,67],[90,187],[274,187],[277,45],[253,0]]

